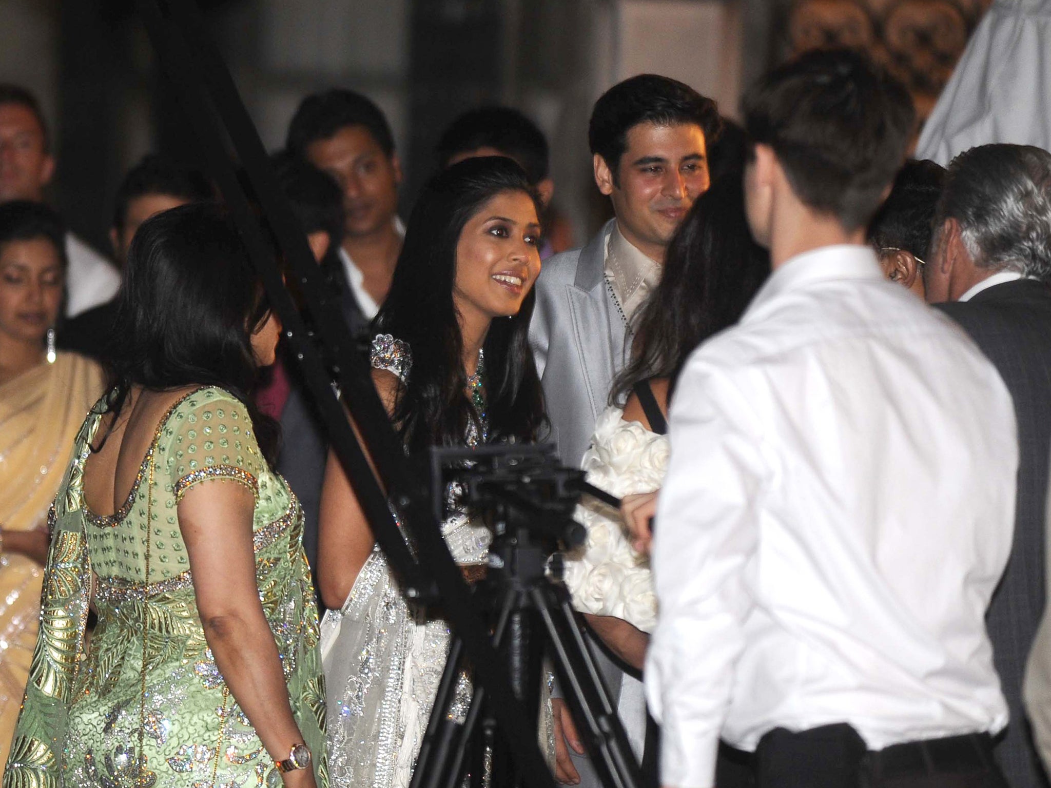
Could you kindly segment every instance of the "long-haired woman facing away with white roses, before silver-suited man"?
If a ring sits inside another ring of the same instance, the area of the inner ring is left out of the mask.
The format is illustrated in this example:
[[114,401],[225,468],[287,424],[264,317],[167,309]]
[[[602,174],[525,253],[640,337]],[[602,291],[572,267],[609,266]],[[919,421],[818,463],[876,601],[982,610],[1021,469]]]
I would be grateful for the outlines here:
[[[588,481],[613,495],[660,488],[668,456],[665,418],[679,371],[698,345],[737,323],[769,275],[769,255],[748,230],[741,184],[739,172],[716,181],[668,245],[660,285],[639,316],[633,357],[614,380],[612,405],[598,417],[583,458]],[[588,542],[568,556],[565,584],[602,641],[641,670],[657,623],[650,559],[630,545],[619,513],[585,502],[577,518]],[[623,721],[636,754],[643,716],[640,709],[638,719]],[[645,750],[648,761],[654,748],[647,743]]]

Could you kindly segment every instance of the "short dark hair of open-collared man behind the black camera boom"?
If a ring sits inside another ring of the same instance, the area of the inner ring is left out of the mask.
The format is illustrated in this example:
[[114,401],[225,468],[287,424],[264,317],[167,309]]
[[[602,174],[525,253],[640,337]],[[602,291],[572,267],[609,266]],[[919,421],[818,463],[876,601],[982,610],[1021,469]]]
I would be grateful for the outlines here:
[[337,87],[300,103],[288,126],[285,147],[303,155],[308,145],[328,140],[347,126],[364,126],[388,157],[394,154],[394,134],[383,110],[360,94]]

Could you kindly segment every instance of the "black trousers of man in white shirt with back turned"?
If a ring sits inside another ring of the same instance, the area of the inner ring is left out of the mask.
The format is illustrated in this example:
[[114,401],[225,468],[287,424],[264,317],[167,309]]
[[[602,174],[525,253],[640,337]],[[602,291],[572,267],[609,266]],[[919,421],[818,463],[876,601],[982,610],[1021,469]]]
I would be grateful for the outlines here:
[[[750,760],[750,769],[738,769],[727,788],[730,784],[739,788],[1008,788],[992,758],[992,739],[984,733],[873,751],[846,724],[799,732],[776,728],[760,740],[750,759],[739,751],[720,755],[720,762],[736,760],[739,766],[742,759]],[[754,781],[750,786],[748,771]]]

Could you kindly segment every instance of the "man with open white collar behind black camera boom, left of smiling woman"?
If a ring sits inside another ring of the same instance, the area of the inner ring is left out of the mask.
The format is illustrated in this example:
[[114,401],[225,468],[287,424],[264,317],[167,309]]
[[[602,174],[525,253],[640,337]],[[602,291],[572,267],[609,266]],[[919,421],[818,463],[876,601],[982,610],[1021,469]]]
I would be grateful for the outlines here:
[[376,316],[390,290],[405,227],[397,216],[401,164],[383,111],[352,90],[308,96],[288,127],[286,147],[339,184],[347,215],[339,258],[360,320]]

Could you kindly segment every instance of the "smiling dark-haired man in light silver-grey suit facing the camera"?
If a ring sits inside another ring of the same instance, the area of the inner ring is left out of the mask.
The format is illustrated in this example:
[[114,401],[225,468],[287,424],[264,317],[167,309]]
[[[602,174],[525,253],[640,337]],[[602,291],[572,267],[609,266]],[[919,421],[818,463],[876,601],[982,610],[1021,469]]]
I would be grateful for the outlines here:
[[[672,234],[708,187],[708,145],[720,125],[714,101],[656,75],[614,85],[595,104],[588,134],[595,183],[615,217],[583,249],[544,262],[530,326],[552,437],[566,464],[580,464],[631,351],[632,318],[660,281]],[[603,655],[599,661],[621,716],[634,707],[639,719],[641,684],[633,679],[622,687],[621,670]],[[597,785],[564,704],[556,701],[555,711],[574,750],[571,763],[556,731],[556,776]]]

